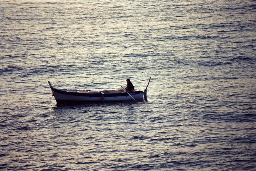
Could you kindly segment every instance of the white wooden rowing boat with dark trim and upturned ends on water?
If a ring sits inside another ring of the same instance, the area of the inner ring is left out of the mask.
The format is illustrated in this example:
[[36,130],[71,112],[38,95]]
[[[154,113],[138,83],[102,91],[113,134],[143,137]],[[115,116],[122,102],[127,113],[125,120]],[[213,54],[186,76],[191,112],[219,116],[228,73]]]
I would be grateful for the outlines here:
[[[150,79],[148,81],[148,84]],[[52,96],[58,104],[75,103],[75,102],[118,102],[118,101],[132,101],[144,99],[147,100],[147,87],[143,91],[134,89],[133,92],[126,91],[122,86],[116,90],[67,90],[56,89],[52,86],[50,81],[48,84],[52,90]]]

